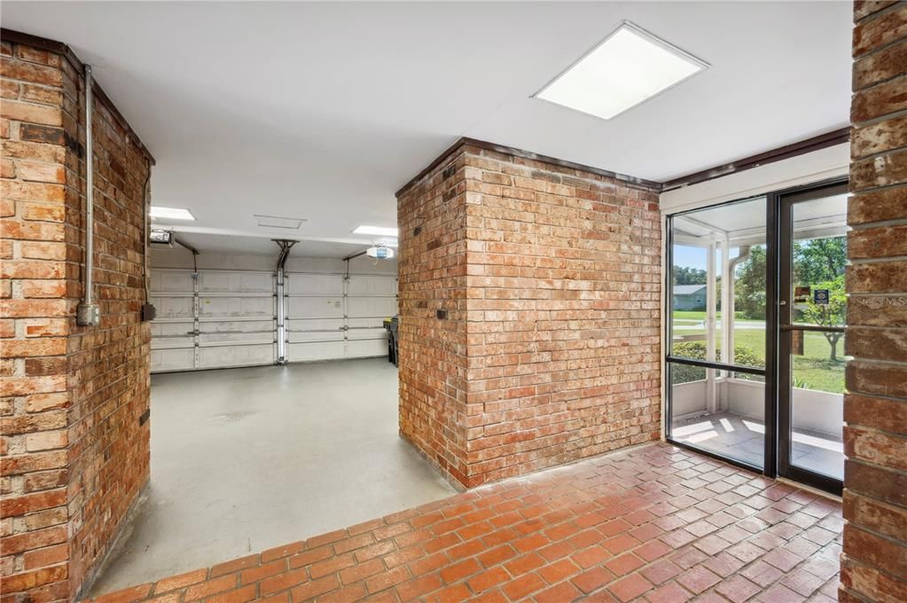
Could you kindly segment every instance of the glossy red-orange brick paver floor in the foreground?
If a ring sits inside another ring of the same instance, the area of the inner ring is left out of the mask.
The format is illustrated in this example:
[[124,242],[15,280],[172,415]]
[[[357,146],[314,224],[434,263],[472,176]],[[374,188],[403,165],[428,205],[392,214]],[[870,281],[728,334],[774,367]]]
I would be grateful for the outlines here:
[[832,601],[841,530],[834,501],[657,443],[94,600]]

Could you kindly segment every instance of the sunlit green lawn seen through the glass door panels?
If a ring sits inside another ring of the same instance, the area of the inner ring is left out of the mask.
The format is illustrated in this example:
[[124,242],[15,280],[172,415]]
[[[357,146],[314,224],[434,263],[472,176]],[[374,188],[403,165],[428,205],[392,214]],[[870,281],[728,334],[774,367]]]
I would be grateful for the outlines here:
[[[674,316],[678,325],[690,325],[692,319],[699,315],[705,317],[704,312],[675,312]],[[702,320],[703,318],[698,318]],[[736,321],[739,326],[745,321]],[[675,335],[701,335],[704,329],[682,329],[675,331]],[[720,333],[720,329],[718,329]],[[761,328],[736,328],[734,330],[734,344],[753,350],[760,357],[766,353],[766,332]],[[794,356],[794,383],[797,387],[806,389],[844,394],[844,339],[838,341],[838,359],[829,358],[831,346],[821,333],[805,333],[804,354]]]

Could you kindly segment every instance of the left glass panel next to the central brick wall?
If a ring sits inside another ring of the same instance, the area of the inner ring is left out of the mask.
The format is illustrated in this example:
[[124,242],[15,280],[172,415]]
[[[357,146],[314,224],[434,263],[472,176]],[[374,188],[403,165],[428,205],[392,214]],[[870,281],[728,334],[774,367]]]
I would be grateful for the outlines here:
[[762,471],[766,198],[669,220],[668,436]]

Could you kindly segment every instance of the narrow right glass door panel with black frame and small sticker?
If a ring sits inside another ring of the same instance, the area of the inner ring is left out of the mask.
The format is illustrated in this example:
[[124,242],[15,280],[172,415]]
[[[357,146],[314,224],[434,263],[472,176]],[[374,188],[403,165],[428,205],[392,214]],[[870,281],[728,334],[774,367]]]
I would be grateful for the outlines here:
[[778,473],[840,491],[847,187],[781,195],[778,203]]

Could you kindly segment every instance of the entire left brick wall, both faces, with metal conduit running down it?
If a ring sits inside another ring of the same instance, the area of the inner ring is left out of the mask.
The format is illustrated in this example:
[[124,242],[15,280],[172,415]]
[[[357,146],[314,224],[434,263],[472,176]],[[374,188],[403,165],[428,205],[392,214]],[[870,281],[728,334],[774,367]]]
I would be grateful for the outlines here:
[[94,293],[102,325],[76,326],[83,78],[62,44],[59,52],[41,46],[2,45],[4,601],[72,598],[149,469],[149,426],[139,418],[149,401],[150,329],[140,310],[151,160],[96,97]]

